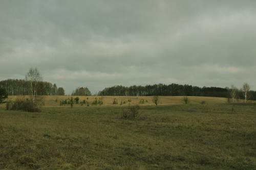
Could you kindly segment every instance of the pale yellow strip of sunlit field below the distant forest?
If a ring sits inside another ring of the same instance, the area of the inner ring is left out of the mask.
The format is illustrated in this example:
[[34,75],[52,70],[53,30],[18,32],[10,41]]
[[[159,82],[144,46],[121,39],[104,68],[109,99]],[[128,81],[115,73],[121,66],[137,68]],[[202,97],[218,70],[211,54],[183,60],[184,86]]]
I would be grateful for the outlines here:
[[[59,106],[61,100],[70,99],[71,97],[76,98],[77,96],[69,95],[46,95],[42,96],[44,99],[45,107],[46,106]],[[78,96],[79,100],[88,100],[89,103],[92,103],[95,98],[99,100],[100,98],[103,101],[102,106],[120,106],[121,101],[125,102],[122,106],[129,105],[140,105],[140,106],[155,106],[153,103],[153,96]],[[9,96],[9,99],[14,101],[17,96]],[[23,96],[24,99],[29,98],[29,96]],[[159,96],[159,105],[177,105],[183,104],[183,96]],[[113,105],[113,100],[117,99],[118,104]],[[205,104],[225,104],[227,103],[226,98],[214,98],[214,97],[201,97],[201,96],[188,96],[189,104],[200,104],[205,102]],[[129,100],[131,102],[129,102]],[[144,100],[144,103],[140,103],[141,100]],[[236,100],[235,102],[243,102],[243,100]],[[247,101],[249,103],[254,103],[254,101]],[[2,106],[3,107],[3,106]]]

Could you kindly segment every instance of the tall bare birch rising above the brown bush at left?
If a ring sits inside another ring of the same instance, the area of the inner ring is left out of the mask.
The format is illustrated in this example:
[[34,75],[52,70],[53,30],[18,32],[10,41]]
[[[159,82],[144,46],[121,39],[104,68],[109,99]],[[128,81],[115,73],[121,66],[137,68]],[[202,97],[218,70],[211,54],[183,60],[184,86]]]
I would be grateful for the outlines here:
[[37,91],[37,83],[39,81],[42,81],[42,77],[40,75],[40,72],[38,71],[37,68],[30,68],[29,72],[26,75],[26,81],[29,82],[30,84],[30,91],[31,91],[31,97],[33,103],[35,102],[36,99],[36,91]]

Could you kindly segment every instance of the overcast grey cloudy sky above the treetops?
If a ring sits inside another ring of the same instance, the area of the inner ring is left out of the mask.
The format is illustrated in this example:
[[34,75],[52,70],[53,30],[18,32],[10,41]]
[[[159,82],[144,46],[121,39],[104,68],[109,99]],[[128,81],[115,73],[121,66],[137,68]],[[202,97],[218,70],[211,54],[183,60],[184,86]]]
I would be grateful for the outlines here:
[[179,83],[256,90],[256,1],[0,2],[0,80],[37,67],[69,94]]

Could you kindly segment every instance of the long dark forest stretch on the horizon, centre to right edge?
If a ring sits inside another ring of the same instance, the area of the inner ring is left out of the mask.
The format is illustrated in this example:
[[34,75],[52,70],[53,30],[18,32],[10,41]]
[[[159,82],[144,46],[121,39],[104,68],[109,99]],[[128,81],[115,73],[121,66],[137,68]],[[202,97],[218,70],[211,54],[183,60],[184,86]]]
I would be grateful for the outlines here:
[[[131,95],[131,96],[147,96],[147,95],[171,95],[171,96],[210,96],[229,98],[229,88],[221,87],[198,87],[180,84],[155,84],[146,86],[113,86],[99,91],[98,95]],[[238,99],[244,99],[242,90],[238,90]],[[250,91],[250,100],[256,100],[256,91]]]

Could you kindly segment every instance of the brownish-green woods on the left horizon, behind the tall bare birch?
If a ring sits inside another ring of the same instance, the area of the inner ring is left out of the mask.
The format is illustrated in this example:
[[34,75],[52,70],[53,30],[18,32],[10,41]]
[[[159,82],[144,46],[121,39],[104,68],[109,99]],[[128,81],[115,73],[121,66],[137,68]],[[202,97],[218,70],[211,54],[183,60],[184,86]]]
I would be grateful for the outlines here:
[[31,82],[29,80],[8,79],[0,81],[0,88],[5,89],[8,95],[65,95],[62,87],[50,82],[38,81],[36,90],[31,92]]

